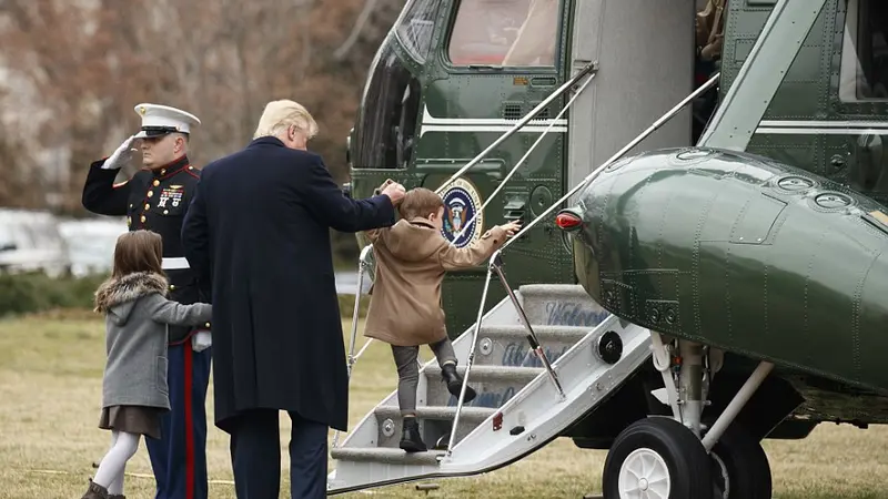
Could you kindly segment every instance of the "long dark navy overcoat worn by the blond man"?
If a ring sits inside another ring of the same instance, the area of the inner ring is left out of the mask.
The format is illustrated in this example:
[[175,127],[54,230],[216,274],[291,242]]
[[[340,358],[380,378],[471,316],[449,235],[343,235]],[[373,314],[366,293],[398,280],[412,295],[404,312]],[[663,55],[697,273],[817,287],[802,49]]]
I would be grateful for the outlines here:
[[182,243],[212,289],[215,425],[253,408],[346,430],[349,387],[330,228],[395,222],[387,196],[345,197],[322,159],[275,138],[203,167]]

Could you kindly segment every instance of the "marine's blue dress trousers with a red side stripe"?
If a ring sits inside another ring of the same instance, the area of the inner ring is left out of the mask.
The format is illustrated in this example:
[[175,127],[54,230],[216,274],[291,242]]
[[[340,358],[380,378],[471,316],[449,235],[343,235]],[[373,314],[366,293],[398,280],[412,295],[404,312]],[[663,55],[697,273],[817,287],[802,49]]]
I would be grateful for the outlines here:
[[170,411],[161,418],[161,439],[145,437],[158,481],[157,499],[206,499],[205,403],[211,350],[193,352],[190,339],[170,345]]

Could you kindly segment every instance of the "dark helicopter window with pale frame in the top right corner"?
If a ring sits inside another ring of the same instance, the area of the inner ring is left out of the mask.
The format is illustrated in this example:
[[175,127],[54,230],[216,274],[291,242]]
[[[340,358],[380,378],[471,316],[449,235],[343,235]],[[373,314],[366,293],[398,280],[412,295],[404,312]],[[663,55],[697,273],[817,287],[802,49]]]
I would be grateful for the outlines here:
[[839,99],[888,99],[888,2],[848,0]]

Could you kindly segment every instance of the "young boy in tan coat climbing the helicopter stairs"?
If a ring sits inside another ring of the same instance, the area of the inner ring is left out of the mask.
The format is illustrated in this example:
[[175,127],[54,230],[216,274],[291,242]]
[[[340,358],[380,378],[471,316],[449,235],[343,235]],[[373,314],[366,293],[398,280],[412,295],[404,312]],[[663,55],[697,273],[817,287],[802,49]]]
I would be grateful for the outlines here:
[[[426,450],[416,424],[420,345],[430,345],[435,353],[451,394],[458,397],[463,385],[441,308],[444,273],[483,264],[521,226],[514,222],[495,226],[470,246],[456,248],[441,233],[444,202],[434,192],[408,191],[398,212],[401,220],[393,226],[367,231],[376,276],[364,336],[392,345],[404,419],[401,448],[420,452]],[[466,387],[465,403],[473,398],[475,390]]]

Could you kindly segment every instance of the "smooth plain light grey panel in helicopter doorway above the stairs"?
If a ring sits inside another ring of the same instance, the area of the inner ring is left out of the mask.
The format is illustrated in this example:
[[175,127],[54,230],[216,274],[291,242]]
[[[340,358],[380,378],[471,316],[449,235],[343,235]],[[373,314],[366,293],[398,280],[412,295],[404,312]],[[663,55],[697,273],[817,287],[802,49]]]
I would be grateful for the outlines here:
[[[571,112],[571,186],[692,93],[696,6],[694,0],[578,3],[573,59],[598,61],[599,71]],[[626,156],[692,145],[690,131],[686,108]]]

